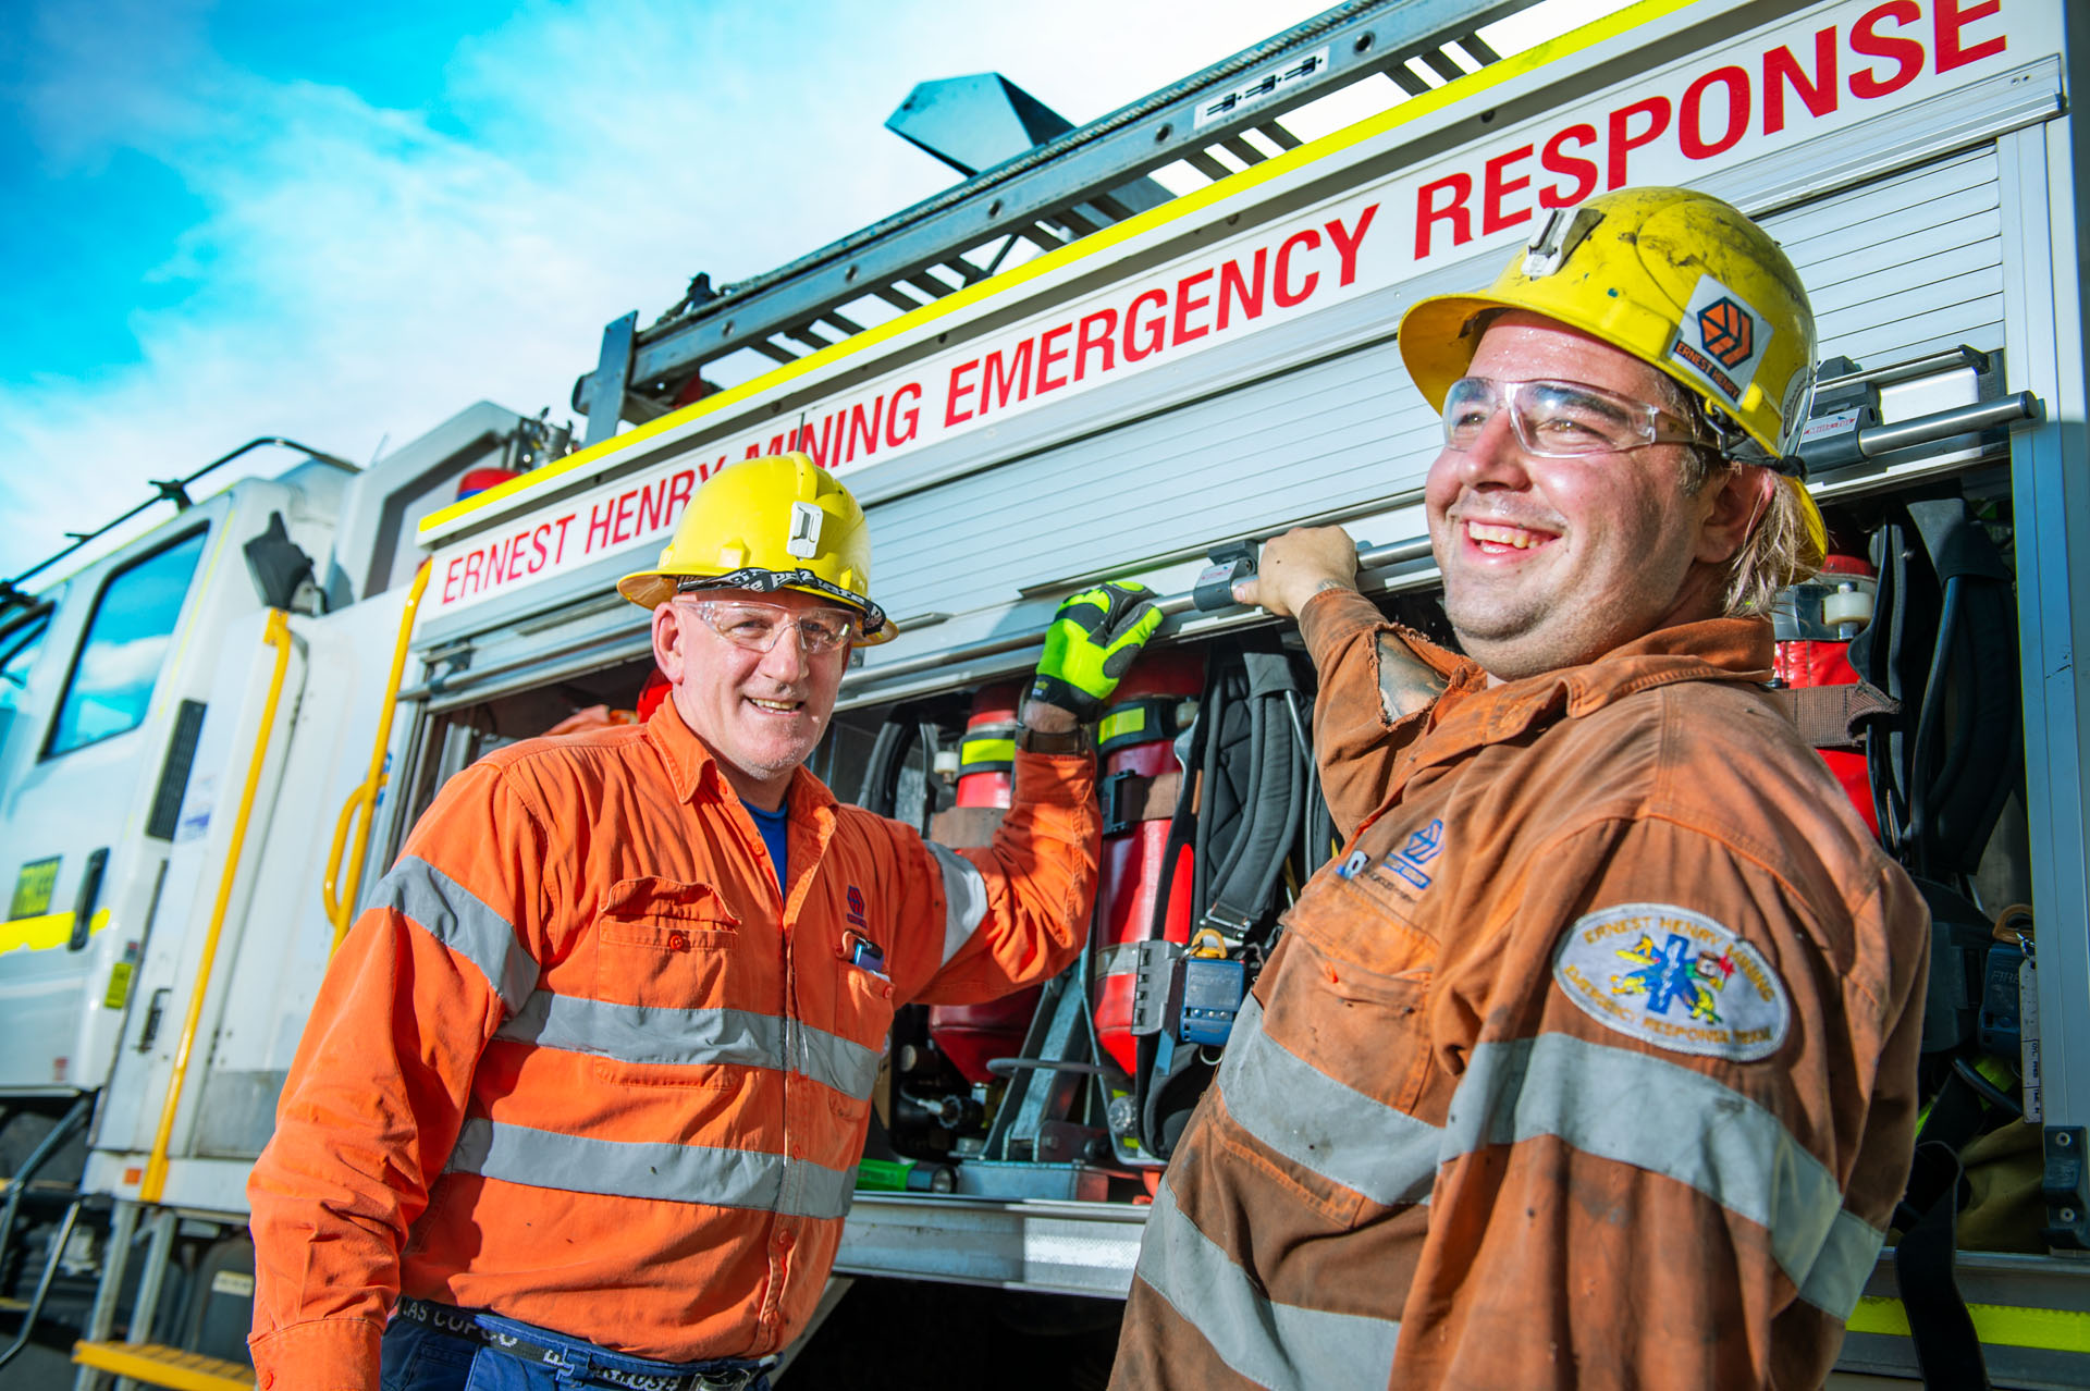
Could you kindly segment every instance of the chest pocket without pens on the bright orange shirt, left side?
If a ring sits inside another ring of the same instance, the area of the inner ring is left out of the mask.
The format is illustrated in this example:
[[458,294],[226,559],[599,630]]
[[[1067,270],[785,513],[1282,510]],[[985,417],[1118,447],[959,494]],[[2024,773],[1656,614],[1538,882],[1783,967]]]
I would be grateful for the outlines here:
[[596,998],[719,1007],[738,952],[740,919],[709,883],[619,879],[596,915]]

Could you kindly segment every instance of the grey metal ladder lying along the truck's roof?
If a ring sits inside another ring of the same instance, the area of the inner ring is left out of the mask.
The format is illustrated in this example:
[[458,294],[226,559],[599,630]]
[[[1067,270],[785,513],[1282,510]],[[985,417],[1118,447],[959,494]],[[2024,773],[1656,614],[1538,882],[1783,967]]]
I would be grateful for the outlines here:
[[1490,63],[1480,29],[1530,0],[1348,0],[1089,125],[821,246],[713,292],[690,292],[648,328],[637,311],[602,332],[573,386],[585,443],[671,411],[706,363],[752,351],[792,363],[991,278],[1018,242],[1058,251],[1137,215],[1112,190],[1179,165],[1231,178],[1302,140],[1281,117],[1369,77],[1407,100]]

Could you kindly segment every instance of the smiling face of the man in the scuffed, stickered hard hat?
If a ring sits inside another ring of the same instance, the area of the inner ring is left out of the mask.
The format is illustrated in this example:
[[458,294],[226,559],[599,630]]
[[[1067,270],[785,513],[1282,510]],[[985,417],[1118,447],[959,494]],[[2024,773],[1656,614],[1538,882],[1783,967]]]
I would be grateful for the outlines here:
[[[1522,311],[1488,326],[1467,372],[1580,382],[1649,405],[1674,399],[1651,366]],[[1749,514],[1737,533],[1735,489],[1718,474],[1685,493],[1685,449],[1538,457],[1517,443],[1507,409],[1469,449],[1444,449],[1425,489],[1430,543],[1467,656],[1515,681],[1718,614],[1724,562]]]

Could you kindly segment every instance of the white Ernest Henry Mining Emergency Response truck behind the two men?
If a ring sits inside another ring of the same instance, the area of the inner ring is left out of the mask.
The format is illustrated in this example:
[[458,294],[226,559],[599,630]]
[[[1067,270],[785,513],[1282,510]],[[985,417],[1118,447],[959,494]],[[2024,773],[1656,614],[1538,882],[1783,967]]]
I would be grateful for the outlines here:
[[[1760,219],[1812,294],[1802,451],[1835,556],[1781,604],[1779,677],[1891,698],[1843,700],[1825,758],[1933,886],[1925,1134],[1965,1174],[1958,1243],[1948,1220],[1921,1291],[1883,1253],[1837,1376],[1921,1378],[1942,1278],[1996,1385],[2090,1385],[2090,142],[2069,102],[2090,19],[1524,8],[1350,0],[1083,127],[1014,94],[1024,140],[945,148],[968,178],[943,194],[608,324],[573,439],[481,403],[368,470],[305,451],[203,501],[182,478],[150,533],[0,591],[17,1347],[77,1287],[77,1385],[251,1376],[245,1182],[334,944],[449,775],[633,706],[648,629],[614,579],[713,470],[786,449],[865,503],[901,631],[853,660],[813,771],[945,844],[1007,800],[1009,683],[1055,604],[1099,579],[1162,595],[1097,731],[1089,948],[1014,1003],[901,1013],[832,1291],[1108,1310],[1241,986],[1336,850],[1310,664],[1229,581],[1258,541],[1340,522],[1365,591],[1442,633],[1440,432],[1400,311],[1486,284],[1553,209],[1685,184]],[[938,129],[936,96],[895,117],[932,148],[972,125]],[[1064,497],[1110,505],[1074,520]]]

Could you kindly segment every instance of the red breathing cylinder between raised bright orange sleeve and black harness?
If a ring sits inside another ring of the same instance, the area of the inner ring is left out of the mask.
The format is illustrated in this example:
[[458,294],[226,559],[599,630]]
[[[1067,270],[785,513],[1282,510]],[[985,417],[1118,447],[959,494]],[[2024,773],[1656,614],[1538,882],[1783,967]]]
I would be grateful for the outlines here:
[[[1191,850],[1181,848],[1175,865],[1168,852],[1168,821],[1181,798],[1183,764],[1175,754],[1181,733],[1179,708],[1204,691],[1204,654],[1170,647],[1145,652],[1118,683],[1112,704],[1095,731],[1104,808],[1104,856],[1095,886],[1095,961],[1089,1003],[1095,1007],[1095,1038],[1124,1074],[1137,1071],[1139,1046],[1133,1038],[1133,952],[1131,946],[1164,936],[1189,942]],[[1168,921],[1156,932],[1154,900],[1162,877],[1172,875]]]

